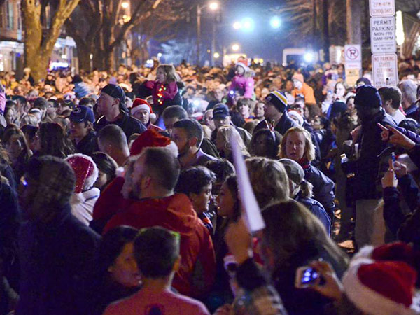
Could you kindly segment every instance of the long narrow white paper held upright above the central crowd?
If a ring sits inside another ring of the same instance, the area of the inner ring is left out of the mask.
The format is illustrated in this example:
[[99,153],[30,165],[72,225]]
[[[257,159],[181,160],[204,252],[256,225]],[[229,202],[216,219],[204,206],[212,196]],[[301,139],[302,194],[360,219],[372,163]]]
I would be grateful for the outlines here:
[[245,160],[241,155],[235,134],[232,134],[232,137],[230,137],[230,145],[232,146],[233,160],[237,172],[239,198],[245,210],[245,221],[251,232],[257,232],[265,228],[265,223],[261,215],[260,206],[258,206],[258,202],[253,193]]

